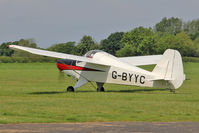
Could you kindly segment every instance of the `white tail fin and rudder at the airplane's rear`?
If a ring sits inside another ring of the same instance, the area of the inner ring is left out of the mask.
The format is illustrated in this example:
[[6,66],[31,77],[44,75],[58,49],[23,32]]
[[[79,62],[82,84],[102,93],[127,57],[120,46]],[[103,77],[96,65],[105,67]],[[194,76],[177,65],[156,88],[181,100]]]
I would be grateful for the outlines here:
[[168,81],[169,88],[179,88],[185,80],[182,57],[177,50],[167,49],[153,73]]

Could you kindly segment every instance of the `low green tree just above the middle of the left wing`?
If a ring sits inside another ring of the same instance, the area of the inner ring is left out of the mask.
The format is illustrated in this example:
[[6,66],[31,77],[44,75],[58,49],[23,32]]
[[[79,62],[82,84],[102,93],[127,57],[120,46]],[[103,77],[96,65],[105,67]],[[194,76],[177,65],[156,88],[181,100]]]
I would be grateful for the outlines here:
[[75,42],[55,44],[47,48],[47,50],[67,53],[67,54],[75,54]]

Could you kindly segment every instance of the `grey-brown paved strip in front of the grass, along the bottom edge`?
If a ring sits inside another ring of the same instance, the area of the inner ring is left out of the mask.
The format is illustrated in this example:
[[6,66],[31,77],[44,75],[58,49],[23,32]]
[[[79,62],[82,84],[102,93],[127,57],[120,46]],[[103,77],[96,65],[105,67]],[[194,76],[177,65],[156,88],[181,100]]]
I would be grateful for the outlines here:
[[0,124],[0,133],[198,133],[198,122]]

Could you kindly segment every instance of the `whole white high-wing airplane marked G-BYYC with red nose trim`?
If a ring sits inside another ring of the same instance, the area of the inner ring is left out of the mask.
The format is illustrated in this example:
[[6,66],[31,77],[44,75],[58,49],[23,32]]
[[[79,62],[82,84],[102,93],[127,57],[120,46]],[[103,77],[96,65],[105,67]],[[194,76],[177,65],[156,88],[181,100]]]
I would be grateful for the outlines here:
[[[18,45],[8,47],[61,58],[57,61],[59,70],[78,79],[74,87],[67,87],[67,91],[75,91],[88,82],[96,82],[97,91],[104,91],[104,83],[111,83],[169,88],[175,92],[185,80],[181,55],[172,49],[167,49],[163,55],[117,58],[101,50],[91,50],[84,56],[76,56]],[[137,67],[151,64],[157,64],[152,72]]]

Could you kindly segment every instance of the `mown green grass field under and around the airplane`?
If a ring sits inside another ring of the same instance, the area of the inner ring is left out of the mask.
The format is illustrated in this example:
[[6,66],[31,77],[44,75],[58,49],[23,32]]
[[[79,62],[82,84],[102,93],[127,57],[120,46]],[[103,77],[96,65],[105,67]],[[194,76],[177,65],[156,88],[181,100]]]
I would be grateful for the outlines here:
[[55,63],[0,64],[0,123],[199,121],[199,63],[184,68],[191,80],[176,94],[112,84],[106,92],[87,84],[65,93],[75,81],[59,80]]

